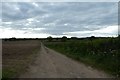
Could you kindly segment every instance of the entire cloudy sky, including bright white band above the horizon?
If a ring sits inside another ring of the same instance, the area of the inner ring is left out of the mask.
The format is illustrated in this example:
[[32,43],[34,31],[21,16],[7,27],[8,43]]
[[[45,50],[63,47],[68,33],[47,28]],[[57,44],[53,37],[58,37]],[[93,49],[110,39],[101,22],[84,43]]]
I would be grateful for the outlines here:
[[0,38],[118,35],[117,2],[3,2]]

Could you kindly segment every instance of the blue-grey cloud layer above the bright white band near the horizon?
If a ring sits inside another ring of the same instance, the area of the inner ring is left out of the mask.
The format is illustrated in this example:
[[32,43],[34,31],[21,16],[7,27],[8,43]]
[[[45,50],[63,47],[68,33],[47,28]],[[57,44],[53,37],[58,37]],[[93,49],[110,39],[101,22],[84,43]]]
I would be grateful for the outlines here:
[[[3,3],[3,22],[13,22],[12,25],[3,24],[3,26],[19,30],[23,30],[24,27],[45,28],[33,32],[62,35],[64,32],[97,30],[105,26],[117,25],[118,5],[115,2],[38,2],[36,4],[38,7],[32,3]],[[27,21],[29,18],[34,21],[29,23]]]

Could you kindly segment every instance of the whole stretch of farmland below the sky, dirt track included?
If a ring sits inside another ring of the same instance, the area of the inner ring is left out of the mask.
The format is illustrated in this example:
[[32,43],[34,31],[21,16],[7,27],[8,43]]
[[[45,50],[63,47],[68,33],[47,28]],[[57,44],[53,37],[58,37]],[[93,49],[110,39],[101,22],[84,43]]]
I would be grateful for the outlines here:
[[2,41],[2,77],[119,77],[119,39],[5,39]]

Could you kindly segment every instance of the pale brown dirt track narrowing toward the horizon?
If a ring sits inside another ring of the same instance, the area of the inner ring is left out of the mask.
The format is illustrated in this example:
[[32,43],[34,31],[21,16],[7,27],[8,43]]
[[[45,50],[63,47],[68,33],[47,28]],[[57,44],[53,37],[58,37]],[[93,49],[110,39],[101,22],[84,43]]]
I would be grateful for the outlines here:
[[95,70],[82,63],[51,50],[41,44],[41,50],[28,72],[20,78],[106,78],[102,71]]

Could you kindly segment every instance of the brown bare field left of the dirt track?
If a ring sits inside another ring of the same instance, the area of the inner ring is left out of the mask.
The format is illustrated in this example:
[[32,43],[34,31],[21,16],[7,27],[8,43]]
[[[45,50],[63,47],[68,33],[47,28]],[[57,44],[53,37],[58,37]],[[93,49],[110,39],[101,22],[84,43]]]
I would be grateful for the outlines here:
[[40,41],[2,41],[2,77],[17,77],[34,61]]

